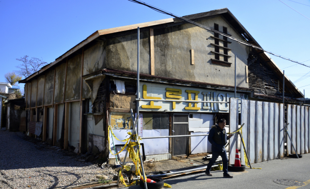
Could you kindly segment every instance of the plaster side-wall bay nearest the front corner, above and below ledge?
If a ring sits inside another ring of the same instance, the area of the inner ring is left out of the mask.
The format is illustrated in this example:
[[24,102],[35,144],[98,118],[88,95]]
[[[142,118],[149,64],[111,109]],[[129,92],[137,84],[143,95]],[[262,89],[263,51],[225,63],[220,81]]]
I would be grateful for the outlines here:
[[[83,75],[93,73],[101,70],[106,66],[106,44],[104,42],[98,42],[89,49],[84,51],[83,62]],[[91,90],[84,83],[83,84],[83,98],[90,98]]]

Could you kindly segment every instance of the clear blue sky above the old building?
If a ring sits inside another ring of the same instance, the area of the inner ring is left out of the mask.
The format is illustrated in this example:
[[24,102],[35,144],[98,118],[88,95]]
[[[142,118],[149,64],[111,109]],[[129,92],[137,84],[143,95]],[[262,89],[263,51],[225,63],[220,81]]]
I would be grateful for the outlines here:
[[[310,18],[310,0],[282,1]],[[227,7],[264,49],[300,62],[309,60],[304,63],[310,65],[310,19],[279,0],[144,2],[179,16]],[[0,82],[5,81],[5,73],[16,70],[16,58],[28,55],[50,63],[96,30],[169,17],[128,0],[0,0]],[[295,64],[270,56],[281,69]],[[293,82],[310,75],[310,68],[299,65],[284,70]],[[310,86],[302,86],[309,81],[295,83],[308,98]]]

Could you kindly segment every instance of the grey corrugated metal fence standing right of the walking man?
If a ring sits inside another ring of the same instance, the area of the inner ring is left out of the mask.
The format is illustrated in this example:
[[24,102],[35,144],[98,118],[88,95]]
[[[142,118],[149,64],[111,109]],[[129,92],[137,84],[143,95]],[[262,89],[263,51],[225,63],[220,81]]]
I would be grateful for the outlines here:
[[[240,100],[230,99],[230,132],[238,125],[237,107]],[[294,154],[291,141],[284,133],[284,107],[282,103],[241,100],[242,136],[250,163],[258,163],[284,157],[284,141],[287,141],[287,154]],[[288,132],[298,154],[309,153],[310,149],[309,106],[287,106]],[[230,143],[230,164],[234,164],[238,135]],[[245,164],[244,150],[241,149],[241,164]]]

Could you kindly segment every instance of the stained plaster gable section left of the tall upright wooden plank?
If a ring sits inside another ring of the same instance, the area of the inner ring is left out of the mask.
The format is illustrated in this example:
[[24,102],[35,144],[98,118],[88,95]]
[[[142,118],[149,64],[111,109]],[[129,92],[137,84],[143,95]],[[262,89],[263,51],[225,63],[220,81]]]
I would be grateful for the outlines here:
[[[150,74],[150,32],[140,32],[140,73]],[[107,40],[107,68],[137,72],[137,34]]]

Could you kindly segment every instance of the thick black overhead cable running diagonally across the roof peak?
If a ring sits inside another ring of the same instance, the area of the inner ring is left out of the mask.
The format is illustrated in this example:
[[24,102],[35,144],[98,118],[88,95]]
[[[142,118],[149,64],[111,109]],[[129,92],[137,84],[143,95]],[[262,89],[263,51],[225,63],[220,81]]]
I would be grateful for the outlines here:
[[[178,15],[174,15],[174,14],[172,14],[172,13],[170,13],[170,12],[164,11],[164,10],[158,8],[158,7],[155,7],[155,6],[153,6],[153,5],[150,5],[150,4],[148,4],[148,3],[145,3],[145,2],[143,2],[143,1],[141,1],[141,0],[129,0],[129,1],[135,2],[135,3],[138,3],[138,4],[141,4],[141,5],[144,5],[144,6],[147,6],[147,7],[151,8],[151,9],[153,9],[153,10],[159,12],[159,13],[162,13],[162,14],[165,14],[165,15],[171,15],[171,16],[173,16],[173,17],[175,17],[175,18],[177,18],[177,19],[179,19],[179,20],[181,20],[181,21],[184,21],[184,22],[193,24],[193,25],[195,25],[195,26],[198,26],[199,28],[206,29],[206,30],[209,30],[209,31],[218,33],[218,34],[220,34],[220,35],[222,35],[222,36],[225,36],[225,37],[227,37],[227,38],[229,38],[229,39],[231,39],[231,40],[233,40],[233,41],[236,41],[236,42],[238,42],[238,43],[240,43],[240,44],[244,44],[244,45],[247,45],[247,46],[251,46],[251,47],[256,48],[256,49],[258,49],[258,50],[261,50],[261,51],[263,51],[263,52],[266,52],[266,53],[269,53],[269,54],[271,54],[271,55],[274,55],[274,56],[276,56],[276,57],[283,58],[283,59],[285,59],[285,60],[289,60],[289,61],[292,61],[292,62],[295,62],[295,63],[297,63],[297,64],[300,64],[300,65],[303,65],[303,66],[306,66],[306,67],[309,67],[309,68],[310,68],[309,65],[306,65],[306,64],[303,64],[303,63],[301,63],[301,62],[292,60],[292,59],[290,59],[290,58],[286,58],[286,57],[280,56],[280,55],[278,55],[278,54],[272,53],[272,52],[270,52],[270,51],[264,50],[264,49],[261,48],[261,47],[258,47],[258,46],[255,46],[255,45],[253,45],[253,44],[249,44],[249,43],[244,42],[244,41],[242,41],[242,40],[236,39],[236,38],[234,38],[234,37],[232,37],[232,36],[230,36],[230,35],[227,35],[227,34],[225,34],[225,33],[222,33],[222,32],[220,32],[220,31],[217,31],[217,30],[215,30],[215,29],[212,29],[212,28],[203,26],[203,25],[201,25],[201,24],[198,24],[198,23],[196,23],[196,22],[193,22],[193,21],[191,21],[191,20],[188,20],[188,19],[186,19],[186,18],[184,18],[184,17],[180,17],[180,16],[178,16]],[[244,37],[245,37],[245,36],[244,36]],[[247,39],[246,37],[245,37],[245,39],[248,41],[248,39]]]

